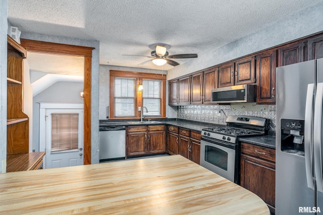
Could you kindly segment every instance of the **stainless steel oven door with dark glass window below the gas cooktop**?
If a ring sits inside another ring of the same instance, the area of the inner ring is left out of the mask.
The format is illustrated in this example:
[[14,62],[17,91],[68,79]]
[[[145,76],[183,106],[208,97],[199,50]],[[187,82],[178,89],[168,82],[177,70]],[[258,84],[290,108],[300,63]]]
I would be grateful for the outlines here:
[[221,140],[201,138],[200,165],[237,183],[238,145]]

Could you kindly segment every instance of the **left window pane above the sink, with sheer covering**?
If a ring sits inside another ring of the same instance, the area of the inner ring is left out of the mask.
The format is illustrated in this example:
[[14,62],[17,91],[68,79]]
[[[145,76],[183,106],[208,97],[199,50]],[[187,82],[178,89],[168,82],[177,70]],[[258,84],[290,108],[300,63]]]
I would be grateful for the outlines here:
[[115,117],[134,117],[136,79],[115,78]]

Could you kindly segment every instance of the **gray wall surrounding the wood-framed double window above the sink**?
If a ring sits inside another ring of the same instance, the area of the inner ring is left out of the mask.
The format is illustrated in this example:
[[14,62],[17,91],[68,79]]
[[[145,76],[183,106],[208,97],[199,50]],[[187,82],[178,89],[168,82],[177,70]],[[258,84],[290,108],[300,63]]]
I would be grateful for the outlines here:
[[[106,119],[106,106],[109,106],[110,101],[110,70],[121,70],[121,71],[138,71],[141,73],[152,73],[152,74],[164,74],[167,75],[167,71],[155,70],[155,69],[144,69],[134,68],[125,66],[113,66],[113,65],[100,65],[100,76],[99,76],[99,118]],[[168,92],[168,83],[166,84],[166,92]],[[167,93],[167,105],[166,105],[166,116],[169,118],[176,118],[177,107],[168,106],[168,93]]]

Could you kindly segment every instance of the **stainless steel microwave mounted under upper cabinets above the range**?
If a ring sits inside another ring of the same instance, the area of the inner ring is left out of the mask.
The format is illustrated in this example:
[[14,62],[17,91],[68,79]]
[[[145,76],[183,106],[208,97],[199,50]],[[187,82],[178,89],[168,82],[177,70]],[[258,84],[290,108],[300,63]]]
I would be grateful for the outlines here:
[[255,102],[256,85],[236,85],[212,89],[213,103]]

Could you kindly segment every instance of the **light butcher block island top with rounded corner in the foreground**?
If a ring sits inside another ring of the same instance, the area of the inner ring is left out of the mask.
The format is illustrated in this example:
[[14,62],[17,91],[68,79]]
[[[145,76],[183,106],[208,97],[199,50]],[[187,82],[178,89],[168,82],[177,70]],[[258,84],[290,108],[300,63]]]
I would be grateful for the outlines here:
[[1,214],[270,214],[180,155],[0,174]]

